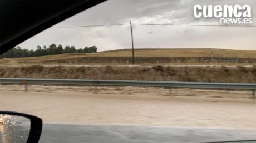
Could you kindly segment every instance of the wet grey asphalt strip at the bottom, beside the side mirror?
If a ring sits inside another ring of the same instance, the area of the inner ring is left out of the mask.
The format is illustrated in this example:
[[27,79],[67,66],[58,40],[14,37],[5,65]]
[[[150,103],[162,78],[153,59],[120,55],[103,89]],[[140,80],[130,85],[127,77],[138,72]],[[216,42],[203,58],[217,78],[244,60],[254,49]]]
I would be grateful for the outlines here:
[[214,142],[253,139],[256,140],[256,130],[45,124],[40,143]]

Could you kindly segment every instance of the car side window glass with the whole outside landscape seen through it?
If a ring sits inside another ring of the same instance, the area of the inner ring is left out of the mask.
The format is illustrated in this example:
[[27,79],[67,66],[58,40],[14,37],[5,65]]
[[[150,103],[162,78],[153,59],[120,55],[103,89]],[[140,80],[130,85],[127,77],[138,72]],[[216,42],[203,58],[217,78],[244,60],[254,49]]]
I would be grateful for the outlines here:
[[42,118],[41,142],[256,140],[255,8],[98,4],[0,55],[1,110]]

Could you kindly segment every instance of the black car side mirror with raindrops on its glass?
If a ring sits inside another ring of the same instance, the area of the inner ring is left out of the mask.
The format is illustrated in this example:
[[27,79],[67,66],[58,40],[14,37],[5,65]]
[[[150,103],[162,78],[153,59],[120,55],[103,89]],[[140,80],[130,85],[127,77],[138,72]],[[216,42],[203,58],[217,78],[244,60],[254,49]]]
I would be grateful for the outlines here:
[[42,119],[23,113],[0,111],[0,143],[36,143],[42,132]]

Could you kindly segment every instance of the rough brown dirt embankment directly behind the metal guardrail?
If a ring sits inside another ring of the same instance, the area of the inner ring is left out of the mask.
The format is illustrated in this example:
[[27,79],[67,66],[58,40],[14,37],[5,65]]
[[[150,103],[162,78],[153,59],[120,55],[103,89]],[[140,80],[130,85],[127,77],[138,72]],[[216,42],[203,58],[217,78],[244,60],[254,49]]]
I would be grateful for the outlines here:
[[256,67],[0,66],[0,77],[256,83]]

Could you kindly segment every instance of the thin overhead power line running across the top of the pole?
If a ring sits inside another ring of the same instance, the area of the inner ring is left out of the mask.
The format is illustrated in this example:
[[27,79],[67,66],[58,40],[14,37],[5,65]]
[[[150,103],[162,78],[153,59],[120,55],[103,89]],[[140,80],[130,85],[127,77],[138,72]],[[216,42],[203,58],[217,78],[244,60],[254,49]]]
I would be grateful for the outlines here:
[[[80,27],[105,27],[105,26],[117,26],[117,25],[130,25],[130,24],[124,23],[124,24],[104,24],[104,25],[80,25],[80,26],[69,26],[69,27],[51,27],[51,29],[80,28]],[[132,23],[132,25],[191,26],[191,27],[256,27],[256,25],[145,24],[145,23]]]

